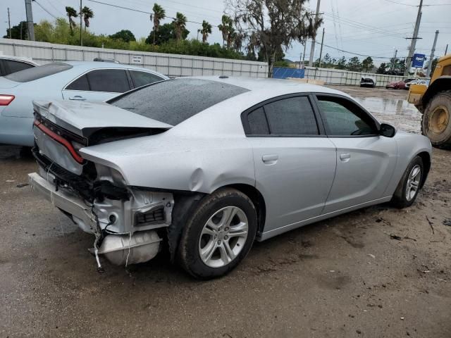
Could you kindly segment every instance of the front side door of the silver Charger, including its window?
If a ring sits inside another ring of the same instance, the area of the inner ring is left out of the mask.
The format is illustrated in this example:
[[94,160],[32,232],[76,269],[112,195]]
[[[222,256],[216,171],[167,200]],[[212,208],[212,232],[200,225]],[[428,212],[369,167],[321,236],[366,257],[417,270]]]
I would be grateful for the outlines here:
[[378,134],[374,118],[354,101],[316,95],[326,134],[337,149],[337,169],[323,213],[381,199],[397,161],[395,139]]

